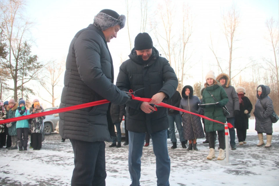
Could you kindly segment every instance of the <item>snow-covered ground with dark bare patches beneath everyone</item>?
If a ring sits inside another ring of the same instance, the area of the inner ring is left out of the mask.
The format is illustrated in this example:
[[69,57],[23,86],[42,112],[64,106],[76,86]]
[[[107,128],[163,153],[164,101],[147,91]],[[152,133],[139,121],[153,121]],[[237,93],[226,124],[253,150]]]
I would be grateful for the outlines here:
[[[237,150],[230,151],[230,160],[241,163],[238,165],[222,166],[216,163],[217,158],[207,160],[209,147],[202,144],[204,139],[197,140],[198,151],[186,151],[179,142],[177,149],[170,149],[168,139],[170,185],[279,185],[278,122],[273,124],[271,148],[256,146],[258,139],[254,123],[253,119],[249,122],[247,144],[240,146],[237,143]],[[40,151],[1,149],[0,185],[70,185],[74,154],[69,140],[64,143],[60,140],[60,135],[53,133],[46,136]],[[128,146],[109,148],[109,145],[106,143],[106,185],[130,185]],[[217,146],[215,152],[218,155]],[[157,185],[152,142],[144,147],[140,181],[143,186]]]

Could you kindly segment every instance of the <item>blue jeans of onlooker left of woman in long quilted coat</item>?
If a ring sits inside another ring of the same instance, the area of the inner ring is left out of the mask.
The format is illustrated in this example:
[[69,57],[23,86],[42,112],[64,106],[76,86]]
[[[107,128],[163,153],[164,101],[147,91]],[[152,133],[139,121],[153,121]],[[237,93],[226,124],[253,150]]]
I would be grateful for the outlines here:
[[171,142],[177,142],[175,131],[174,131],[174,121],[178,130],[180,142],[185,142],[185,139],[183,137],[183,127],[181,123],[182,121],[181,121],[180,114],[168,115],[168,120],[169,120],[169,136],[171,138]]

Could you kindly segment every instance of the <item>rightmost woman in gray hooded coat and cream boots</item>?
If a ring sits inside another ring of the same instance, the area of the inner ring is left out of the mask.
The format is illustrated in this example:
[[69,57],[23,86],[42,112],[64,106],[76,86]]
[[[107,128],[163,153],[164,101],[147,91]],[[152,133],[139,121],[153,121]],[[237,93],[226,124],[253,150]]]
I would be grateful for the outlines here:
[[273,113],[273,103],[268,94],[270,88],[265,85],[257,87],[257,102],[255,104],[254,116],[256,119],[255,130],[258,133],[260,142],[257,146],[264,145],[263,134],[267,134],[267,144],[265,147],[271,147],[272,122],[270,115]]

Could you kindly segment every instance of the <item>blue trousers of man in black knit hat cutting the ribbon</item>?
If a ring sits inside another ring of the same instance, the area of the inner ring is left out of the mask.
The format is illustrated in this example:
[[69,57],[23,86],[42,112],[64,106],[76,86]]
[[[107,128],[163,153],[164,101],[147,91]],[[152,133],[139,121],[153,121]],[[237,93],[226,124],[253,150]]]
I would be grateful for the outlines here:
[[[153,152],[156,156],[156,176],[158,186],[169,186],[169,174],[171,161],[167,148],[167,130],[150,134],[153,144]],[[130,186],[140,185],[140,171],[142,148],[145,140],[145,133],[129,131],[129,156],[128,165],[132,183]]]

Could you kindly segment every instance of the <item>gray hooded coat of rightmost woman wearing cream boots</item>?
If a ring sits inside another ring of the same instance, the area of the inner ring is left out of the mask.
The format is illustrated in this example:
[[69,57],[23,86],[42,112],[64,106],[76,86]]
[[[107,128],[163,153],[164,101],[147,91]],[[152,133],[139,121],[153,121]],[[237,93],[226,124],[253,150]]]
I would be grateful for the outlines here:
[[[258,87],[262,87],[261,96],[258,95],[257,90],[257,102],[255,104],[254,116],[256,119],[255,130],[259,133],[272,133],[272,122],[270,119],[270,115],[273,113],[273,103],[271,98],[268,96],[270,93],[270,88],[265,85],[259,85]],[[257,87],[257,89],[258,89]],[[264,105],[264,108],[262,107]]]

